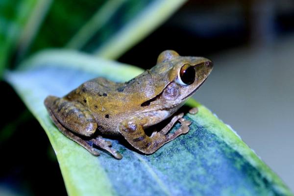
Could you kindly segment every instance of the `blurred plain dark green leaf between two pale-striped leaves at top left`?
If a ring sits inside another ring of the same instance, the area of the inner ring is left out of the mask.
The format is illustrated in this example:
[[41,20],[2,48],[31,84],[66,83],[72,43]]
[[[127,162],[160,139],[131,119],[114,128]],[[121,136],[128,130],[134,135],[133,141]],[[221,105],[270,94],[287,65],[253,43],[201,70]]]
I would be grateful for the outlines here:
[[55,0],[31,47],[64,47],[76,32],[95,14],[105,0]]

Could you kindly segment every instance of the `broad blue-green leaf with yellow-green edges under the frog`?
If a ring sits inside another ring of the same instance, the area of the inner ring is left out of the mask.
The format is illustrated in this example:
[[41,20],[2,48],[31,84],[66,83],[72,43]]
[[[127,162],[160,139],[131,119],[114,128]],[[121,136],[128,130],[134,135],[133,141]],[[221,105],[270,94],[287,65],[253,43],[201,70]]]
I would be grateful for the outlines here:
[[[67,50],[48,50],[5,78],[45,129],[55,150],[69,195],[292,195],[282,180],[226,124],[195,100],[190,132],[151,155],[128,149],[116,160],[92,156],[50,121],[43,101],[63,96],[97,76],[126,81],[142,70]],[[173,131],[179,126],[173,128]]]

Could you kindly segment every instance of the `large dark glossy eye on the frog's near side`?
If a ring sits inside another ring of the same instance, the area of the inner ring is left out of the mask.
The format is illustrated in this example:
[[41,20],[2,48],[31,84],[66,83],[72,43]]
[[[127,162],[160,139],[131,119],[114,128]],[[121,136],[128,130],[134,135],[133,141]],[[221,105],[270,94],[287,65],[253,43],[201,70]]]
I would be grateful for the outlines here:
[[188,86],[195,81],[195,69],[194,66],[190,64],[185,64],[181,67],[176,82],[183,86]]

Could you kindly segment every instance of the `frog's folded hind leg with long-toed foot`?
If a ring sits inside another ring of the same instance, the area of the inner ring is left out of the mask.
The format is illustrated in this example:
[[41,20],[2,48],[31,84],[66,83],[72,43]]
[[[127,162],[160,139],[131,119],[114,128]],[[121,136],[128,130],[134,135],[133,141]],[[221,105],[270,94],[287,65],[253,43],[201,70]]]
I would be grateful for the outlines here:
[[120,153],[111,148],[111,142],[103,140],[101,136],[87,140],[73,134],[75,132],[89,137],[94,134],[98,126],[92,113],[81,103],[49,96],[45,99],[45,106],[58,129],[68,138],[86,148],[91,154],[99,155],[99,152],[93,147],[96,145],[110,152],[117,159],[123,158]]

